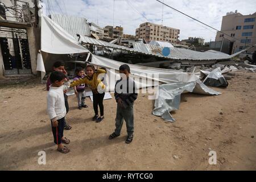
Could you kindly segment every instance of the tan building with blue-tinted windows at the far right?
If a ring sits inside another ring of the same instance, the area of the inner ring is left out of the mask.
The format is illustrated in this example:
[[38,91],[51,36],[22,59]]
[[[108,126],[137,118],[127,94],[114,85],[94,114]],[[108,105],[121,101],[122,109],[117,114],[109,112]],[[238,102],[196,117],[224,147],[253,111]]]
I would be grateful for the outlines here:
[[[232,45],[232,53],[256,44],[255,19],[256,13],[251,15],[242,15],[241,13],[237,13],[237,11],[235,13],[227,13],[222,18],[221,32],[217,32],[216,42],[222,42],[224,39],[228,39]],[[255,47],[248,51],[255,51]]]

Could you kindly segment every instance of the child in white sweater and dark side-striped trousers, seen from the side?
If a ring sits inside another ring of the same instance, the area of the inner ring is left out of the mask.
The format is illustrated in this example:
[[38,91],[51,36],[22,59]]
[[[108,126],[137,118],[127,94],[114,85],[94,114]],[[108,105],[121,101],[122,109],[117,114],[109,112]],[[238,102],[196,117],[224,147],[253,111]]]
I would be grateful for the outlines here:
[[47,94],[47,113],[51,119],[54,143],[57,144],[57,151],[67,154],[69,149],[62,144],[69,144],[70,142],[69,139],[63,137],[66,115],[63,90],[69,88],[69,82],[67,82],[67,78],[64,73],[57,71],[52,72],[49,79],[52,84],[49,86],[49,92]]

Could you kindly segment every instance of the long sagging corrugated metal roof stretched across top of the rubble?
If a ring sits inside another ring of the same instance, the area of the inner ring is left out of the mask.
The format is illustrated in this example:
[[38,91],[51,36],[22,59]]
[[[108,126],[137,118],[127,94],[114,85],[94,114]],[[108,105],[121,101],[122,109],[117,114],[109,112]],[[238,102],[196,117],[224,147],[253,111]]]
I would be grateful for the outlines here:
[[169,56],[162,55],[163,47],[151,45],[151,44],[142,44],[142,43],[133,43],[134,48],[127,48],[124,46],[119,46],[116,44],[108,43],[102,40],[96,40],[89,38],[87,36],[82,36],[80,41],[85,44],[93,44],[96,46],[109,47],[115,49],[121,49],[124,51],[134,52],[134,53],[142,53],[144,55],[151,55],[156,57],[163,57],[169,60],[226,60],[231,59],[232,57],[240,54],[240,51],[233,55],[228,55],[218,51],[206,51],[206,52],[197,52],[189,49],[183,48],[170,48],[171,54]]

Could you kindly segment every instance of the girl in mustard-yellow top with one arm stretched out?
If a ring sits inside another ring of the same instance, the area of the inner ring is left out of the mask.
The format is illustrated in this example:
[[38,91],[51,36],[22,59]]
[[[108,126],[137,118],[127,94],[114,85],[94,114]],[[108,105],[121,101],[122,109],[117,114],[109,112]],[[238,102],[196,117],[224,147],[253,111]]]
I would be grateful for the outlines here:
[[[92,89],[93,93],[93,109],[94,109],[94,117],[93,121],[101,122],[104,119],[104,106],[103,106],[103,98],[105,96],[105,88],[106,86],[103,84],[98,75],[101,73],[106,73],[104,69],[97,69],[95,71],[94,65],[86,66],[86,76],[84,78],[80,78],[79,80],[73,81],[70,87],[87,84],[90,89]],[[100,107],[100,117],[98,116],[98,106]]]

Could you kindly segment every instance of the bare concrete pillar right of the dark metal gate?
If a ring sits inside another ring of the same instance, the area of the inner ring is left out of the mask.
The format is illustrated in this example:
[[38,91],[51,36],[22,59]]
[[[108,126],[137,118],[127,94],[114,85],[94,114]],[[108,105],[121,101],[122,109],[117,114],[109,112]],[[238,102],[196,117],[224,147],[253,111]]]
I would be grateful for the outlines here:
[[34,27],[27,28],[28,46],[30,48],[31,70],[33,75],[37,75],[36,62],[38,56],[38,45],[35,39]]

